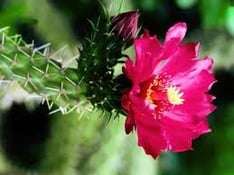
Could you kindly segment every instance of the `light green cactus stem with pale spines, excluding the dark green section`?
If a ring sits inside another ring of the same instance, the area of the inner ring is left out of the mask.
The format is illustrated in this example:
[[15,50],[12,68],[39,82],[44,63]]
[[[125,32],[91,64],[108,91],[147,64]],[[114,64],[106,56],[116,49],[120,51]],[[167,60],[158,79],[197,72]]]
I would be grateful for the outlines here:
[[[35,48],[21,36],[8,36],[8,28],[0,30],[0,75],[5,80],[17,80],[28,92],[36,93],[51,109],[68,113],[90,106],[82,98],[83,77],[75,69],[63,67],[49,44]],[[87,109],[84,109],[87,110]]]

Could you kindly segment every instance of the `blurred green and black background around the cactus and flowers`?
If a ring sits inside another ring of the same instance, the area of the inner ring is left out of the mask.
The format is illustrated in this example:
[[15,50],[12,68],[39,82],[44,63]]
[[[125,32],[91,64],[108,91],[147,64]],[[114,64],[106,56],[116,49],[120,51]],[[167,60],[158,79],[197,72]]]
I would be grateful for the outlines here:
[[[109,121],[99,111],[82,118],[48,115],[46,105],[29,110],[13,104],[0,112],[0,175],[233,175],[234,2],[124,0],[121,8],[121,0],[102,3],[112,15],[139,10],[139,25],[159,38],[174,23],[187,23],[185,40],[200,42],[201,57],[215,61],[212,132],[195,140],[192,151],[154,160],[137,146],[135,134],[125,135],[124,116]],[[68,45],[64,54],[69,57],[90,32],[87,19],[96,19],[100,11],[97,0],[0,0],[0,27],[10,26],[12,34],[36,46]],[[4,92],[12,95],[18,88]]]

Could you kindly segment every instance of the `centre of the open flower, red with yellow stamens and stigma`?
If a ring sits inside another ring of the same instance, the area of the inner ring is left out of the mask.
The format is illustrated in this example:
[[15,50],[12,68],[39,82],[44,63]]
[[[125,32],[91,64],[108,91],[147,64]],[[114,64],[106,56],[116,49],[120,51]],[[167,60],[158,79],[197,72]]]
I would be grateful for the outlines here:
[[161,74],[146,82],[145,99],[155,106],[155,112],[162,113],[170,110],[174,105],[184,102],[183,93],[174,85],[170,85],[170,76]]

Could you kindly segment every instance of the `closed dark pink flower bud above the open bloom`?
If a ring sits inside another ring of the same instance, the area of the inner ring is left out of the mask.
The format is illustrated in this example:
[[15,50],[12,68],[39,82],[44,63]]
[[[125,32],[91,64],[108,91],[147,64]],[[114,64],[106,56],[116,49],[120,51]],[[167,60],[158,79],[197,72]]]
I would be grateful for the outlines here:
[[120,37],[126,40],[132,40],[137,35],[139,14],[137,11],[121,13],[111,20],[113,30]]

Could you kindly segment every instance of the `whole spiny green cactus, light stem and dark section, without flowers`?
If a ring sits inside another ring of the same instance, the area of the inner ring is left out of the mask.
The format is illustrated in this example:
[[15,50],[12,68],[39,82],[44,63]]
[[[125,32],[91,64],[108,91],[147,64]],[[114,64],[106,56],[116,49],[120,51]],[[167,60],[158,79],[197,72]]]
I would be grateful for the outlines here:
[[61,64],[56,54],[60,51],[52,52],[50,44],[35,48],[20,35],[8,36],[8,28],[1,29],[1,78],[17,80],[50,109],[56,104],[55,111],[84,113],[97,107],[117,116],[121,112],[121,76],[114,75],[114,67],[123,62],[122,51],[129,41],[113,31],[106,14],[90,25],[93,32],[82,43],[75,68]]

